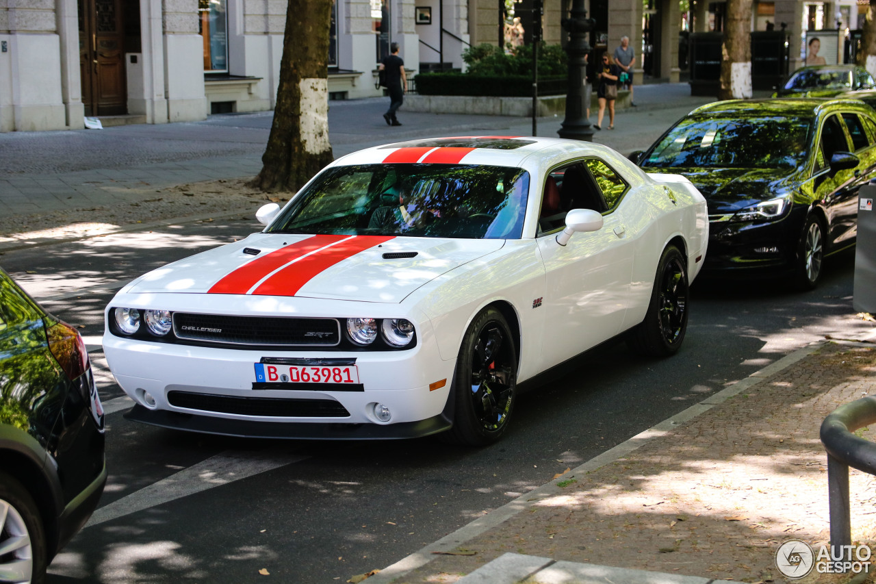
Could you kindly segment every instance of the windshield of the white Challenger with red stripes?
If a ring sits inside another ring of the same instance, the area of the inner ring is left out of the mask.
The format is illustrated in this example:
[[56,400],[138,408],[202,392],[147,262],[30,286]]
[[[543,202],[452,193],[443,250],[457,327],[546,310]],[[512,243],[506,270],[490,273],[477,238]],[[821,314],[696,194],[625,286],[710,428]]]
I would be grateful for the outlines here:
[[516,239],[529,173],[439,164],[331,167],[265,230],[268,233]]

